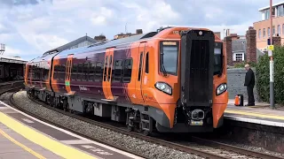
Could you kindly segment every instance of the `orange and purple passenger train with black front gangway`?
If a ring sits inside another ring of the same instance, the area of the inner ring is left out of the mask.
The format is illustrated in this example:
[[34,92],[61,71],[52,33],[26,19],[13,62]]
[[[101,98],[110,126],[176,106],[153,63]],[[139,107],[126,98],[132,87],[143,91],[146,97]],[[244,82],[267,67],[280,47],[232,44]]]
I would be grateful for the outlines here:
[[49,77],[26,84],[44,102],[130,130],[211,132],[228,102],[225,59],[209,29],[168,27],[42,57]]

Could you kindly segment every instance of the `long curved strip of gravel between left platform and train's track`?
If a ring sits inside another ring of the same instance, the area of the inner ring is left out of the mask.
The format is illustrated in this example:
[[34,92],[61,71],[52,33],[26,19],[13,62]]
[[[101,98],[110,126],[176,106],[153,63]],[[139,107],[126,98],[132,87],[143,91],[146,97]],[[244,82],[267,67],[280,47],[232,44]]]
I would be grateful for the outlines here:
[[39,106],[35,102],[28,99],[26,91],[20,91],[13,95],[15,102],[20,103],[20,107],[24,110],[43,117],[53,123],[67,127],[77,133],[83,133],[96,140],[104,140],[111,145],[118,146],[119,148],[127,148],[135,150],[135,152],[146,155],[149,158],[162,158],[162,159],[200,159],[201,156],[191,155],[185,152],[177,151],[172,148],[162,147],[154,143],[147,142],[146,140],[139,140],[122,133],[115,133],[97,125],[91,125],[73,117],[67,117],[59,112],[49,110],[43,106]]

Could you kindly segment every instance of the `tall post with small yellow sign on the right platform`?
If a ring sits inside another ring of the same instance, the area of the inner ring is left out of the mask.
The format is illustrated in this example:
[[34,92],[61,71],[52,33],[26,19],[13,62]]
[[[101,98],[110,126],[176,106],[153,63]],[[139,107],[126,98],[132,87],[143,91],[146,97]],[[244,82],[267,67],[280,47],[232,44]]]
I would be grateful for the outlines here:
[[275,108],[274,106],[274,62],[273,62],[273,56],[272,56],[272,50],[273,50],[273,42],[272,42],[272,0],[270,0],[270,45],[272,45],[272,47],[270,47],[270,49],[268,51],[270,51],[270,107],[272,109]]

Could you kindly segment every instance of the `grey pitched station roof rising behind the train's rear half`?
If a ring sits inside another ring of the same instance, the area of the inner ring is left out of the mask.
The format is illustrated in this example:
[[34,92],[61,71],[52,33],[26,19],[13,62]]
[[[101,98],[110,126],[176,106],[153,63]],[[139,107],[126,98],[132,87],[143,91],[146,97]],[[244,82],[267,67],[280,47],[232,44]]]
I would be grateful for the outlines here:
[[81,42],[84,42],[84,41],[88,41],[88,42],[91,42],[91,43],[96,43],[96,42],[98,42],[98,41],[92,39],[90,36],[85,35],[85,36],[83,36],[83,37],[81,37],[81,38],[76,39],[75,41],[68,42],[67,44],[62,45],[62,46],[60,46],[60,47],[58,47],[58,48],[55,48],[55,49],[51,49],[51,50],[49,50],[49,51],[46,51],[46,52],[43,53],[43,55],[49,54],[49,53],[51,53],[51,52],[60,52],[60,51],[62,51],[62,50],[71,48],[72,46],[75,46],[75,45],[77,45],[77,44],[79,44],[79,43],[81,43]]

